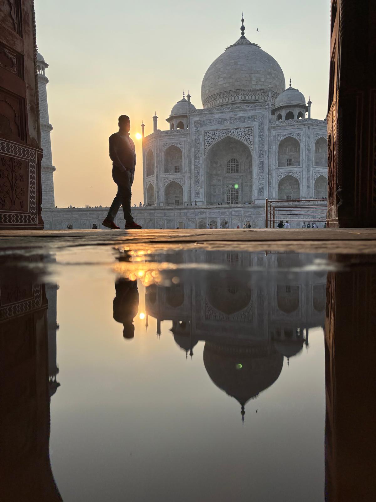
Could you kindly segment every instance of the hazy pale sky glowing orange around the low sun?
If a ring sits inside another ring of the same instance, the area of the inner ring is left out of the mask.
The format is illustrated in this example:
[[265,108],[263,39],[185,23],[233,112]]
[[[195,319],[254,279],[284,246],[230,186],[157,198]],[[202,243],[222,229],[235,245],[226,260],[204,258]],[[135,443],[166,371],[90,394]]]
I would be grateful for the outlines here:
[[[274,57],[306,101],[312,118],[326,115],[329,72],[329,0],[36,0],[38,50],[46,70],[55,203],[110,205],[116,193],[108,137],[117,117],[131,118],[137,165],[132,204],[143,201],[141,142],[158,129],[190,90],[202,108],[201,82],[210,64],[245,35]],[[257,33],[256,29],[259,29]],[[92,188],[91,188],[92,187]]]

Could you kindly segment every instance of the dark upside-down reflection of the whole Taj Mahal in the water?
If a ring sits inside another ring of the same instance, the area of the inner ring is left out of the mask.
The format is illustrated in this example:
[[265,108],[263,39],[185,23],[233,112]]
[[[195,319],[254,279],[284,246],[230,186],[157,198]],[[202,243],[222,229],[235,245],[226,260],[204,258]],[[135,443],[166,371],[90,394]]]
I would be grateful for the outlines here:
[[[205,341],[210,378],[239,401],[244,415],[246,403],[278,379],[284,357],[288,364],[304,345],[308,349],[309,328],[323,327],[326,273],[291,278],[283,272],[304,263],[303,255],[227,252],[217,264],[230,264],[230,276],[211,273],[203,281],[149,286],[146,312],[157,319],[158,334],[161,321],[172,321],[173,338],[186,356]],[[277,275],[247,282],[251,274],[245,279],[244,271],[250,267],[276,269]]]

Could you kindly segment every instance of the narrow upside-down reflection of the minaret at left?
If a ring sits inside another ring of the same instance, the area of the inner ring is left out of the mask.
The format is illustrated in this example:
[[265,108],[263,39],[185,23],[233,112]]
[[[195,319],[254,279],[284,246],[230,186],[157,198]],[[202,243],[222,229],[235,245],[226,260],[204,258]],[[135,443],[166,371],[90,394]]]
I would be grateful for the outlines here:
[[54,285],[46,286],[46,297],[48,301],[48,380],[50,397],[53,396],[60,386],[56,380],[56,375],[59,373],[59,368],[56,364],[56,331],[59,329],[59,325],[56,322],[56,297],[57,289],[59,287]]

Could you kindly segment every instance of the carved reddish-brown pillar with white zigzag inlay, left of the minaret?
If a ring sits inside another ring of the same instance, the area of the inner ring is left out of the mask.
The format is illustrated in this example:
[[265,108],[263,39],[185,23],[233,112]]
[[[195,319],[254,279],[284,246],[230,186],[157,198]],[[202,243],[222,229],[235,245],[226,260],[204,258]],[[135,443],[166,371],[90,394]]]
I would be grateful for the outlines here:
[[0,228],[43,228],[33,0],[0,3]]

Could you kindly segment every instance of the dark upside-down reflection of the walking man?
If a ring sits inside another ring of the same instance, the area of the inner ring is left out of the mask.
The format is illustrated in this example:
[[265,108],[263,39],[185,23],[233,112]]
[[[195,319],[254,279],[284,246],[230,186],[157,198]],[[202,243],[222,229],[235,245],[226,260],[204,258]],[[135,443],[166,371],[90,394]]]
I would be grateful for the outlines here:
[[115,282],[114,319],[123,325],[124,338],[134,337],[133,319],[138,312],[137,281],[118,279]]

